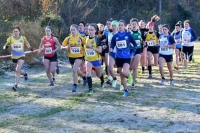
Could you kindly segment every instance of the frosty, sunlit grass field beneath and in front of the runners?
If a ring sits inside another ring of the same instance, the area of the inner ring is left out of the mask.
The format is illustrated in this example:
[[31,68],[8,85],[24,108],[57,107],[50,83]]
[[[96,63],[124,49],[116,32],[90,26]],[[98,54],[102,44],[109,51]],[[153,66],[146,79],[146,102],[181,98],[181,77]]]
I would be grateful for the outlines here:
[[[17,92],[11,91],[14,73],[0,77],[0,133],[140,133],[200,132],[200,43],[195,45],[195,63],[189,72],[174,70],[175,86],[160,86],[158,67],[153,79],[148,73],[137,79],[136,89],[123,91],[105,86],[93,78],[95,93],[87,96],[87,87],[78,85],[71,92],[72,70],[61,66],[54,87],[48,87],[44,68],[27,69],[29,81],[21,79]],[[119,77],[118,77],[119,79]]]

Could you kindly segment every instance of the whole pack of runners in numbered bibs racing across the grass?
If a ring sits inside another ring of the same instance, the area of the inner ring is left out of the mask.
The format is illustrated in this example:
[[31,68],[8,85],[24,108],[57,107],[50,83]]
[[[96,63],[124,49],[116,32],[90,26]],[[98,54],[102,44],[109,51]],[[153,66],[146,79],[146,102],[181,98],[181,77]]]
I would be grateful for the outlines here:
[[[95,71],[100,79],[101,89],[105,83],[116,88],[118,81],[121,81],[120,90],[124,90],[123,96],[128,96],[127,80],[134,88],[140,64],[142,73],[145,69],[148,70],[148,79],[153,78],[152,66],[159,66],[160,84],[164,85],[165,62],[169,70],[170,85],[174,86],[173,53],[175,51],[176,54],[174,68],[179,69],[179,62],[183,61],[185,71],[188,72],[188,60],[194,61],[194,41],[197,35],[190,27],[189,20],[184,21],[183,28],[181,22],[175,24],[172,33],[167,24],[158,25],[157,32],[154,25],[159,19],[159,16],[154,15],[148,23],[145,23],[144,20],[138,21],[132,18],[129,24],[124,20],[108,19],[105,26],[100,23],[86,24],[80,21],[70,26],[70,35],[63,40],[62,45],[52,34],[52,27],[47,26],[38,53],[44,54],[43,63],[50,82],[49,86],[54,85],[55,72],[58,70],[57,51],[60,49],[67,51],[73,70],[72,92],[77,91],[78,77],[81,77],[83,86],[88,84],[88,94],[93,94],[92,71]],[[20,75],[23,75],[25,80],[28,79],[28,74],[21,69],[25,57],[24,45],[33,50],[26,37],[21,36],[20,27],[16,26],[13,28],[13,36],[10,36],[4,45],[4,49],[11,47],[12,61],[16,67],[15,84],[12,86],[14,91],[17,90]],[[103,64],[108,77],[106,82],[101,67]],[[120,80],[114,72],[115,67]]]

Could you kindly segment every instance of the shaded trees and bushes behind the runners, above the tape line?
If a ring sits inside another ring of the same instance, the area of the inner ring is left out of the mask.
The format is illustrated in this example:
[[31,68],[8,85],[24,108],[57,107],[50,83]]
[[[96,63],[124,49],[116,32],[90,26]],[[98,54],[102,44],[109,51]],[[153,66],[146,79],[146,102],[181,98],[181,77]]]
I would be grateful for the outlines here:
[[[42,27],[51,25],[54,34],[62,40],[69,34],[69,26],[79,20],[105,24],[108,18],[138,18],[149,21],[158,13],[159,0],[0,0],[0,45],[12,33],[13,25],[22,26],[34,47],[44,35]],[[190,19],[199,31],[200,0],[162,0],[161,21],[174,24]],[[34,40],[34,41],[32,41]]]

